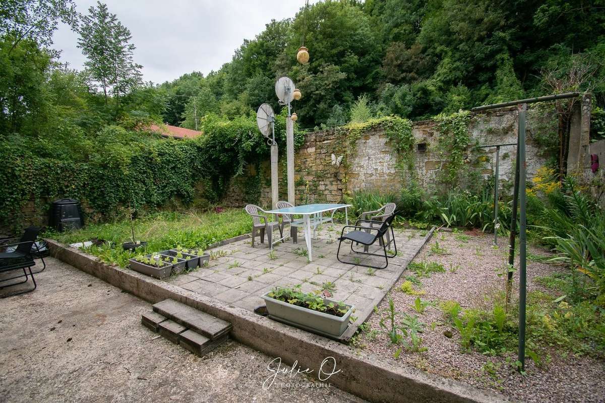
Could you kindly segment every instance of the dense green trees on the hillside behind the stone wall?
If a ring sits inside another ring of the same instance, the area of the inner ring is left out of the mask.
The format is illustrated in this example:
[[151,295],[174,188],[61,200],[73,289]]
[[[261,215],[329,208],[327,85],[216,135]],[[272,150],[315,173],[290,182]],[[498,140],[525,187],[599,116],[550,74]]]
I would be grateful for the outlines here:
[[[580,55],[597,63],[591,80],[602,104],[603,10],[603,0],[325,0],[271,21],[186,91],[197,97],[206,88],[206,101],[195,102],[213,106],[201,114],[234,117],[263,102],[280,108],[273,83],[287,75],[302,91],[294,108],[303,126],[341,121],[364,94],[374,114],[424,118],[545,94],[549,66]],[[307,65],[295,59],[303,38]],[[181,105],[166,111],[169,123],[194,122],[191,99],[178,92],[189,84],[186,75],[162,85],[172,88],[170,105]]]

